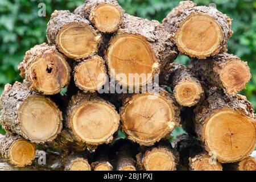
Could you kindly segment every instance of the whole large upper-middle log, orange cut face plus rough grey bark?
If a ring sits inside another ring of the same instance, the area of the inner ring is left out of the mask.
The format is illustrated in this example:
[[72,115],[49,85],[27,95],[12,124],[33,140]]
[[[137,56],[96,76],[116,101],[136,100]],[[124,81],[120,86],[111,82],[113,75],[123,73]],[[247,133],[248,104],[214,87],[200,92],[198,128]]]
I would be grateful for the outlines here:
[[164,67],[177,56],[170,34],[156,20],[128,14],[121,28],[106,51],[109,75],[126,88],[151,83],[160,65]]

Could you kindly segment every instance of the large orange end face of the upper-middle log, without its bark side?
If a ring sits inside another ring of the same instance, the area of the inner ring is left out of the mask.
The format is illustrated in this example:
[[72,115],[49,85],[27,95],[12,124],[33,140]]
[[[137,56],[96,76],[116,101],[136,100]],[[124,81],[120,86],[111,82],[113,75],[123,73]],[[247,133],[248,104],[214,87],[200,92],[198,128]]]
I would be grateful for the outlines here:
[[[154,73],[159,69],[152,47],[141,35],[116,36],[110,41],[106,57],[109,74],[115,77],[120,85],[146,85],[152,81]],[[129,75],[133,77],[130,79]]]

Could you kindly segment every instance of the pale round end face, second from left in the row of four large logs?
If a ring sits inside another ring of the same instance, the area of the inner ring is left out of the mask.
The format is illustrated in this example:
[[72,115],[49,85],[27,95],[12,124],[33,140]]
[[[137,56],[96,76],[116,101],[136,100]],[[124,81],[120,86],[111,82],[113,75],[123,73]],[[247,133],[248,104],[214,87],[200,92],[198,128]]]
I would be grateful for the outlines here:
[[119,120],[113,106],[101,101],[84,101],[72,112],[69,127],[77,140],[97,146],[113,139]]

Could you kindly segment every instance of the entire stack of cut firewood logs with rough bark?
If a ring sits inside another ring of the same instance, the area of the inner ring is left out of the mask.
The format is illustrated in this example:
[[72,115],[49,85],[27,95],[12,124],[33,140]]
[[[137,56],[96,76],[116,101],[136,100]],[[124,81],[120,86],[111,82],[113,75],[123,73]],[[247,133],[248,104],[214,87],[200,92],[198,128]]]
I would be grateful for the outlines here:
[[[46,160],[57,152],[57,169],[73,171],[256,170],[254,110],[237,94],[250,68],[226,53],[231,24],[191,1],[162,24],[125,13],[115,0],[55,10],[48,44],[26,52],[24,81],[2,93],[0,169],[56,169],[35,160],[40,147]],[[191,63],[173,63],[179,54]],[[127,80],[131,74],[147,77]],[[158,92],[144,90],[155,75]],[[176,126],[188,134],[171,144]],[[118,129],[127,139],[116,141]]]

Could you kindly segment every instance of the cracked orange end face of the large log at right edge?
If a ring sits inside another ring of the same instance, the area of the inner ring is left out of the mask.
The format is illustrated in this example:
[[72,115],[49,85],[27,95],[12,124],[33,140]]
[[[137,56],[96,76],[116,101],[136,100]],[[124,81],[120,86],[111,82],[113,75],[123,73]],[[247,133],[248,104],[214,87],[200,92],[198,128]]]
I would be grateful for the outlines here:
[[210,115],[202,135],[206,149],[222,163],[237,162],[250,155],[255,136],[255,120],[227,107]]

